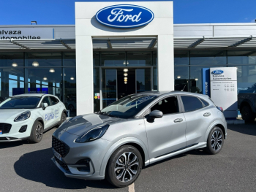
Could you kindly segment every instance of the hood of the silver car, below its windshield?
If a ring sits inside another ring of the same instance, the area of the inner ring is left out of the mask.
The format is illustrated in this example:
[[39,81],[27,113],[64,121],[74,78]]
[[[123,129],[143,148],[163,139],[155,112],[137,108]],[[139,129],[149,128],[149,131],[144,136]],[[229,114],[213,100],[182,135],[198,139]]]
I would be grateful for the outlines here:
[[124,119],[112,118],[108,115],[97,115],[97,114],[88,114],[80,115],[75,118],[71,118],[64,123],[59,128],[63,131],[68,132],[69,134],[75,134],[80,136],[85,134],[87,131],[95,128],[97,126],[102,126],[110,123],[117,123],[118,121],[123,121]]

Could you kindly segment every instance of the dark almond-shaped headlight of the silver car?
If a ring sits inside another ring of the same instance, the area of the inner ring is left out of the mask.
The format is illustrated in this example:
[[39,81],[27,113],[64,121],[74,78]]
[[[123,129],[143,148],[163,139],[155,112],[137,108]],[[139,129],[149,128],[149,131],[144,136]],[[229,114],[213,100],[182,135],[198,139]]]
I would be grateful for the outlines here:
[[108,127],[109,125],[93,128],[90,131],[86,132],[86,134],[78,137],[78,139],[75,139],[75,142],[92,142],[96,139],[99,139],[105,134],[105,132],[108,130]]

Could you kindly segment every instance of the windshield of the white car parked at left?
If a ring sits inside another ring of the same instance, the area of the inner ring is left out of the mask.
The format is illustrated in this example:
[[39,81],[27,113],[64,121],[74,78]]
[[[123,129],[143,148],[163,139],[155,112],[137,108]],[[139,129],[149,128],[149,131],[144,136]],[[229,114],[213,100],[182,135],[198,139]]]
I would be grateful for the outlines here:
[[0,104],[1,109],[34,109],[40,101],[40,97],[22,96],[12,97]]

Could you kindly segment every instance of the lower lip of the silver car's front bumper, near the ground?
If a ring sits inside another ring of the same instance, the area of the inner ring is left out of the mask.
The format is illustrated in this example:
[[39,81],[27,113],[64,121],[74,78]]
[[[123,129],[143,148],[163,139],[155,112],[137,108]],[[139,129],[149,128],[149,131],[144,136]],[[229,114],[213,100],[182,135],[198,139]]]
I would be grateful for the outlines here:
[[[54,164],[56,164],[56,166],[61,169],[61,172],[64,172],[65,176],[67,177],[72,177],[75,179],[82,179],[82,180],[104,180],[105,176],[99,175],[99,172],[94,172],[94,173],[89,173],[89,174],[72,174],[72,172],[64,169],[60,164],[58,164],[58,162],[56,161],[56,159],[51,158],[51,160],[53,161]],[[76,169],[75,165],[71,165],[71,164],[67,164],[69,169]]]

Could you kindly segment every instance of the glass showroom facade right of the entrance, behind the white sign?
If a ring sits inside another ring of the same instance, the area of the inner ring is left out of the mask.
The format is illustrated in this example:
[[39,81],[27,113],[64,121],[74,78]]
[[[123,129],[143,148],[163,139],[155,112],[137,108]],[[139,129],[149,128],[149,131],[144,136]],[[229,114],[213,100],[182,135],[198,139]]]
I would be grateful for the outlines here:
[[176,50],[174,57],[176,91],[202,93],[203,68],[236,66],[238,93],[256,92],[256,50]]

